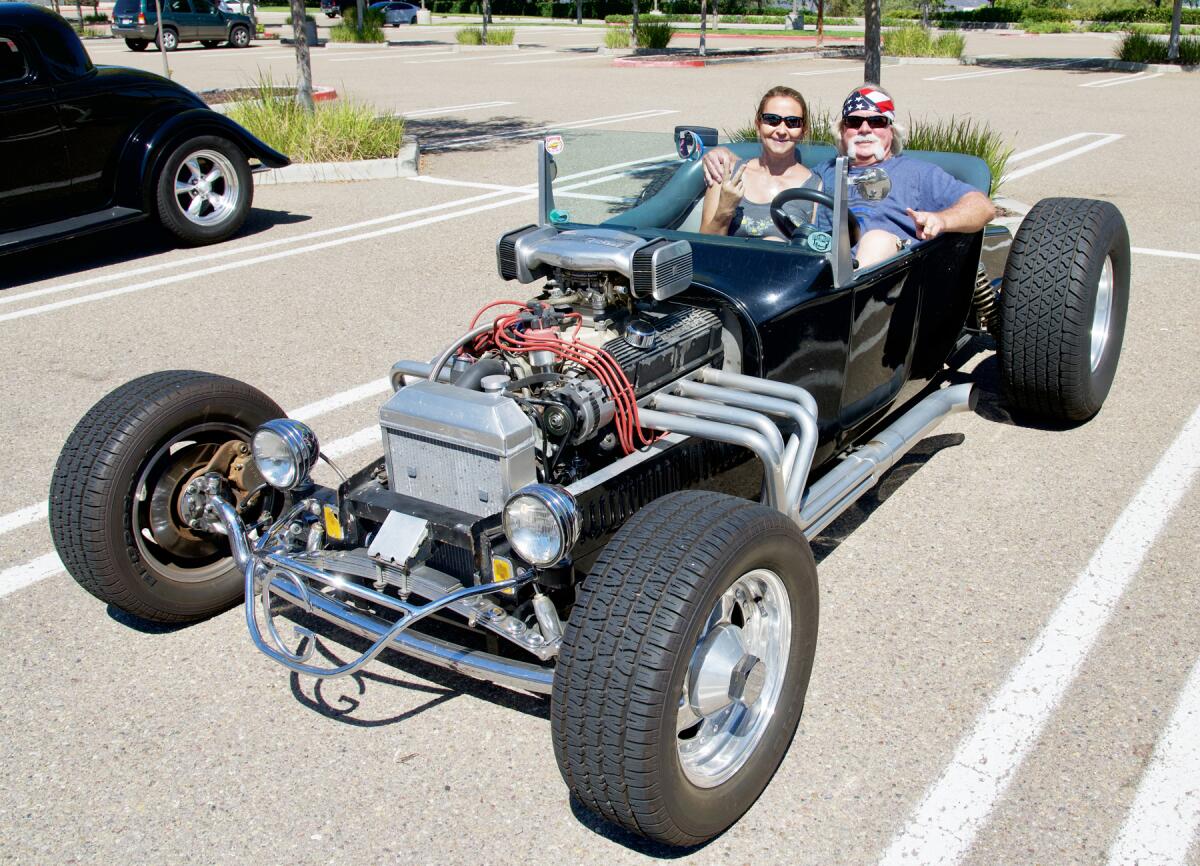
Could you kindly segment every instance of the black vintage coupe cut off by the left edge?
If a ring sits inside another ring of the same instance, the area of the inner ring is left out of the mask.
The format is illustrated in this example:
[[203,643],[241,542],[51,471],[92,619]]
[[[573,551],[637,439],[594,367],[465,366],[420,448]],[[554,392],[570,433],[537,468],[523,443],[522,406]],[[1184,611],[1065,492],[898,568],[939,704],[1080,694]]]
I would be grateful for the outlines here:
[[222,241],[250,212],[251,160],[288,164],[187,88],[95,66],[60,16],[0,4],[0,254],[146,218]]

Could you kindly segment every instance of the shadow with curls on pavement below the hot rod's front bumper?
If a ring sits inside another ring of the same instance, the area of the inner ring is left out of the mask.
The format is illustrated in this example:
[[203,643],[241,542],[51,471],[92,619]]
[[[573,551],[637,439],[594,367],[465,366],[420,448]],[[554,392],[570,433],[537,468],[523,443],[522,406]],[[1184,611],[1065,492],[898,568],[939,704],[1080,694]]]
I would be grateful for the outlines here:
[[[330,668],[338,667],[353,658],[350,652],[355,655],[364,652],[371,645],[364,638],[342,631],[323,619],[311,617],[295,608],[284,611],[283,615],[288,621],[308,629],[317,636],[313,658],[310,658],[307,662],[310,664]],[[346,648],[348,651],[336,652],[326,641],[336,642],[338,648]],[[400,674],[408,674],[408,676],[388,676],[379,673],[380,666],[392,668]],[[382,652],[374,660],[372,667],[372,670],[359,670],[336,680],[313,680],[308,676],[293,673],[290,678],[292,694],[301,705],[314,712],[319,712],[326,718],[361,728],[386,727],[403,722],[426,710],[432,710],[460,694],[469,694],[535,718],[550,720],[550,700],[547,698],[515,692],[503,686],[484,682],[473,676],[464,676],[454,670],[428,664],[419,658],[413,658],[394,650]],[[428,682],[419,682],[412,678],[419,678]],[[311,685],[306,687],[306,684]],[[374,684],[379,688],[404,688],[407,691],[426,692],[434,697],[420,706],[414,706],[400,715],[385,718],[371,718],[370,699],[367,698],[367,687],[370,684]],[[341,693],[337,693],[338,690],[341,690]]]

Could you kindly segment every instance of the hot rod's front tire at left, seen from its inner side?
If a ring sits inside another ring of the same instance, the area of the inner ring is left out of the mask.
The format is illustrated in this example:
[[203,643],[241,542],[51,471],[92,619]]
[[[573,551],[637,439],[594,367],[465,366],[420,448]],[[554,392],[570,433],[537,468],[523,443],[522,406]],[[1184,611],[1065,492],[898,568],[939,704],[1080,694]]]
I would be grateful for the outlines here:
[[50,481],[50,535],[67,571],[101,601],[156,623],[235,603],[241,575],[228,542],[188,527],[179,498],[222,445],[238,449],[230,474],[257,479],[250,438],[283,414],[250,385],[196,371],[151,373],[103,397]]

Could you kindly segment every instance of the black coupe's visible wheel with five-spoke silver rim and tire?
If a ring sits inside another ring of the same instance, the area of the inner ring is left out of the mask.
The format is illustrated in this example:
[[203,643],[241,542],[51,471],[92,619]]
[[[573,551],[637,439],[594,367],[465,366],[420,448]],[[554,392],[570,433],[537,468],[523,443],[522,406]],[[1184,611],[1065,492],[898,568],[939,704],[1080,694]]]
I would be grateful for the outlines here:
[[155,182],[158,221],[188,246],[229,237],[246,222],[253,198],[245,155],[217,136],[178,145]]

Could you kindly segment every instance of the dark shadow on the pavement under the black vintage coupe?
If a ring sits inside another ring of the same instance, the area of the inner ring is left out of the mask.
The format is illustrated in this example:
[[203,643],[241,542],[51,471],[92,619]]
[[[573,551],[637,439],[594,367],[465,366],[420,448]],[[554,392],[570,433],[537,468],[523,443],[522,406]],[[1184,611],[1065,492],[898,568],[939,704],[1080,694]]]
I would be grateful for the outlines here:
[[[252,208],[246,217],[246,223],[230,241],[253,237],[276,225],[289,225],[310,219],[312,217],[307,214]],[[70,254],[65,254],[66,247],[64,245],[70,245]],[[221,243],[211,247],[194,247],[198,251],[221,248]],[[74,276],[95,267],[120,265],[149,255],[168,253],[173,249],[187,252],[186,247],[173,242],[166,231],[151,222],[143,221],[132,225],[119,225],[68,241],[48,243],[26,252],[6,255],[4,269],[0,270],[0,290],[16,289],[43,279]],[[234,253],[236,249],[230,247],[229,252]]]

